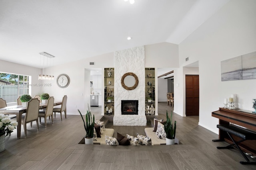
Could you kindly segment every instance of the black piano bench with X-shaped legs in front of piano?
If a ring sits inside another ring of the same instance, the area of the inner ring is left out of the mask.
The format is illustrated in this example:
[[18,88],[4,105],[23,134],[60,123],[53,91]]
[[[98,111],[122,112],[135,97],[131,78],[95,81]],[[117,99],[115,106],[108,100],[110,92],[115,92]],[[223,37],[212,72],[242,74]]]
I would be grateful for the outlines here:
[[[222,131],[225,131],[228,133],[228,136],[233,141],[231,145],[228,145],[226,147],[217,147],[217,149],[232,149],[233,145],[236,145],[237,149],[240,151],[240,153],[244,156],[247,162],[240,161],[241,164],[256,164],[256,162],[250,162],[250,160],[247,158],[247,156],[244,154],[244,152],[241,150],[241,148],[238,146],[238,143],[241,143],[246,140],[256,140],[256,133],[252,131],[248,131],[246,129],[243,129],[241,127],[235,126],[235,125],[217,125],[217,128],[219,128]],[[242,138],[240,141],[235,141],[234,138],[230,135],[235,135],[237,137]]]

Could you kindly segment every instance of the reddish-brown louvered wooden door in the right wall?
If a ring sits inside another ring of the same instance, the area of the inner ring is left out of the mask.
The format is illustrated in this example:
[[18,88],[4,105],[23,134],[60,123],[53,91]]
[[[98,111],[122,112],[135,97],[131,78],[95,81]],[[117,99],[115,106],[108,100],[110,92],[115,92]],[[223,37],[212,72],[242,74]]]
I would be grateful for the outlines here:
[[199,75],[186,75],[186,115],[199,115]]

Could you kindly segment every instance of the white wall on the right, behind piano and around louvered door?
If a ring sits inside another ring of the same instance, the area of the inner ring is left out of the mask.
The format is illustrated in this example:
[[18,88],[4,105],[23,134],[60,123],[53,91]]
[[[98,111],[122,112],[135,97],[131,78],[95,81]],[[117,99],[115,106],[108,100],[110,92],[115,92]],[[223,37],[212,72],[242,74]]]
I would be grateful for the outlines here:
[[[240,109],[253,110],[256,79],[222,82],[220,62],[256,51],[255,9],[255,0],[230,0],[179,45],[178,77],[184,76],[182,66],[199,61],[199,125],[215,133],[218,133],[218,119],[212,117],[211,113],[224,106],[224,98],[236,94]],[[190,62],[185,63],[186,57],[189,57]],[[178,81],[184,85],[184,81]],[[174,91],[184,93],[181,88]],[[184,103],[184,96],[179,100]],[[181,115],[184,113],[183,107],[175,108],[175,111]]]

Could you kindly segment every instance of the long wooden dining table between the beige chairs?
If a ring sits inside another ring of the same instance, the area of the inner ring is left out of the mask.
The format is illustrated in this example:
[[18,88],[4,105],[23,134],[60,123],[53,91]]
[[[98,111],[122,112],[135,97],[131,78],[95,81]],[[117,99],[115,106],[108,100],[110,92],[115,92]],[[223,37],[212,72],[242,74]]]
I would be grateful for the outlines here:
[[[61,105],[62,101],[56,101],[54,102],[54,106],[57,105]],[[39,109],[45,109],[47,107],[47,103],[40,103],[39,104]],[[26,106],[22,106],[22,105],[14,105],[14,106],[7,106],[7,107],[2,107],[0,108],[0,113],[4,114],[4,115],[10,115],[10,114],[14,114],[16,115],[16,119],[18,122],[17,125],[17,138],[20,139],[20,134],[21,134],[21,117],[22,114],[25,113],[26,114],[27,111],[27,107]]]

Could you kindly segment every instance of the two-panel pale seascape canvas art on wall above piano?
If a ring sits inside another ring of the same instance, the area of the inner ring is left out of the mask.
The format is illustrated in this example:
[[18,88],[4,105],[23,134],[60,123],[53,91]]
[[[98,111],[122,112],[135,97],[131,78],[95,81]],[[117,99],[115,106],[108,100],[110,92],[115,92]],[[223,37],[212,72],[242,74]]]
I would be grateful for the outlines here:
[[221,81],[256,79],[256,51],[221,61]]

